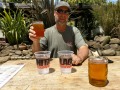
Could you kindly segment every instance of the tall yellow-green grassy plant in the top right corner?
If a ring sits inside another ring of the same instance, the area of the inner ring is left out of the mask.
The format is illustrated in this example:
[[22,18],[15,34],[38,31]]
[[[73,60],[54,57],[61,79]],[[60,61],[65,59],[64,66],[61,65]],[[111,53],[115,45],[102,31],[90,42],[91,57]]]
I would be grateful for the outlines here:
[[93,9],[97,13],[98,22],[103,27],[105,35],[111,36],[113,28],[120,23],[120,2],[118,1],[116,4],[110,2],[101,6],[96,5]]

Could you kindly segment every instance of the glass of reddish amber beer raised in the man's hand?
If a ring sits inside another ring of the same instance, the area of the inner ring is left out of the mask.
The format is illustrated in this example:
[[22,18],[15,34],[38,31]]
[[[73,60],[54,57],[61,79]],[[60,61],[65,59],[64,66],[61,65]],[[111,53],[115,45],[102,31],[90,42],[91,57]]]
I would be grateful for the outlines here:
[[44,24],[42,21],[34,21],[32,26],[34,27],[33,30],[36,32],[36,37],[44,36]]

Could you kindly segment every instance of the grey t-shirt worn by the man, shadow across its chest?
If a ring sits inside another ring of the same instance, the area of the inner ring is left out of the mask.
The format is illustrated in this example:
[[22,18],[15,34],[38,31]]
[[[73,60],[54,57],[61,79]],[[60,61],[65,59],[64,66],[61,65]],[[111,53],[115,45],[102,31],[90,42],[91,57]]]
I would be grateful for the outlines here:
[[76,27],[67,26],[64,32],[59,32],[56,26],[47,28],[40,40],[42,50],[51,51],[51,57],[58,57],[60,50],[72,50],[76,54],[77,48],[86,45],[80,31]]

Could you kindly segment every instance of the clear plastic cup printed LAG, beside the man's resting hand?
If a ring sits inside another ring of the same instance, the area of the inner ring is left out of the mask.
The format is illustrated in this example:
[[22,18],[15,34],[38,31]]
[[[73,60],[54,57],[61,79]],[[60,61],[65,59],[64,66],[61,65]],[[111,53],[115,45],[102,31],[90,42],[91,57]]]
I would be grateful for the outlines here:
[[62,73],[71,73],[72,70],[72,54],[73,51],[62,50],[58,51],[60,68]]

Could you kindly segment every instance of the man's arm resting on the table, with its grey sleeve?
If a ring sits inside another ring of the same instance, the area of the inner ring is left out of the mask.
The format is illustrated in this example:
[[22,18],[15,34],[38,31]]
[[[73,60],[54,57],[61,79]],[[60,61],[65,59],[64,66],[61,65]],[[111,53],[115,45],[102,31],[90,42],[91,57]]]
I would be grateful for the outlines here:
[[81,35],[80,30],[76,27],[73,27],[73,31],[75,34],[75,45],[78,48],[78,51],[77,51],[77,55],[75,54],[72,55],[73,58],[72,63],[77,65],[82,63],[88,57],[89,49],[88,49],[88,45],[85,43]]

